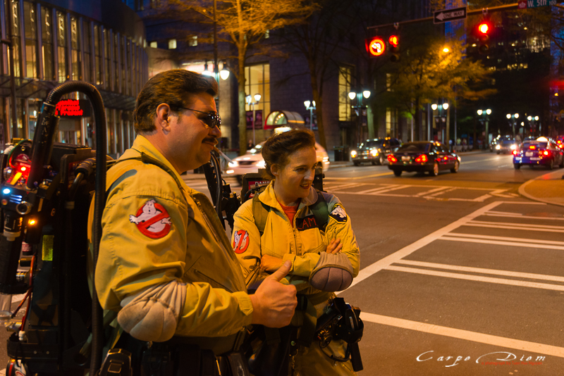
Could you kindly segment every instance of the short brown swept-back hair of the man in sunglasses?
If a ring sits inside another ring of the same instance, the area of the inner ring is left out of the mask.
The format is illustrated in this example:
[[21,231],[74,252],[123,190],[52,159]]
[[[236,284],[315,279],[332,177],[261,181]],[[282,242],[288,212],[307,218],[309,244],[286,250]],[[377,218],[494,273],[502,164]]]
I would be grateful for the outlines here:
[[189,70],[166,70],[151,77],[137,95],[135,101],[135,130],[151,132],[155,130],[154,118],[157,106],[166,103],[172,111],[188,106],[184,101],[190,94],[217,94],[217,82],[212,77],[190,72]]

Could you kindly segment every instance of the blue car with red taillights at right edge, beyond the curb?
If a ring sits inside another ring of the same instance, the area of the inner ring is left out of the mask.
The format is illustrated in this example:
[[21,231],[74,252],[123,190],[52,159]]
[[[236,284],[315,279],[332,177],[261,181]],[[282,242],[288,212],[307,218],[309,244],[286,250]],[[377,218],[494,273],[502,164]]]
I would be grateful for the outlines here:
[[552,170],[554,165],[563,168],[564,151],[554,140],[546,137],[526,139],[513,151],[513,167],[519,170],[521,165],[544,165],[548,170]]

